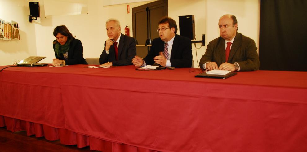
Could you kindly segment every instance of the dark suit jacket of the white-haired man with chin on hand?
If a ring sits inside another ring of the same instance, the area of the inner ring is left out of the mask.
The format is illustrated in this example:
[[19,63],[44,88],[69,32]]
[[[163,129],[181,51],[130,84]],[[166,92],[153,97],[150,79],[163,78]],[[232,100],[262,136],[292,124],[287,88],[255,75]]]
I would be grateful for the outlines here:
[[132,58],[136,55],[136,40],[121,33],[118,43],[118,60],[115,60],[114,44],[109,49],[109,54],[102,51],[99,63],[112,62],[113,66],[131,65]]

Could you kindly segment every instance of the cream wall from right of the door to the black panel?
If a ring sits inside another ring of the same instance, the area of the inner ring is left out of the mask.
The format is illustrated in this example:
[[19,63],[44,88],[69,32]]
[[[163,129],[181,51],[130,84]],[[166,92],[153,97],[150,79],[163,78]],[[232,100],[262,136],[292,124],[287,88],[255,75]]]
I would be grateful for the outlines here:
[[[178,16],[194,15],[196,41],[206,34],[206,45],[220,36],[218,22],[222,15],[232,14],[238,20],[238,32],[255,40],[259,46],[259,19],[260,1],[258,0],[168,0],[168,15],[179,24]],[[179,31],[180,33],[180,31]],[[196,44],[199,48],[200,43]],[[206,47],[197,49],[192,44],[193,60],[195,68],[198,67],[200,58],[205,53]],[[197,63],[198,61],[198,63]]]

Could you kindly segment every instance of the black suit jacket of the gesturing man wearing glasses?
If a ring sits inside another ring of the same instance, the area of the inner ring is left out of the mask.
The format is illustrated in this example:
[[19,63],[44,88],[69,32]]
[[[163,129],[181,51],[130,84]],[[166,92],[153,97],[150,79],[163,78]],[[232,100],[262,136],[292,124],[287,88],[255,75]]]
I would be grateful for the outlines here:
[[[152,41],[148,55],[143,59],[146,65],[154,64],[154,57],[164,50],[164,41],[155,38]],[[180,35],[175,36],[171,49],[171,67],[191,67],[192,65],[192,45],[191,40]]]

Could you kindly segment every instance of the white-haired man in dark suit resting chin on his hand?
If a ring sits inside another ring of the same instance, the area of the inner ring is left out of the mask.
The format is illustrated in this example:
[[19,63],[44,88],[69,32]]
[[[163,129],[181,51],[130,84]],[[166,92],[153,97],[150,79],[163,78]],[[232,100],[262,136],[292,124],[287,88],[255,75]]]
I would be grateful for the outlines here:
[[107,20],[105,27],[109,38],[105,41],[105,48],[99,58],[100,66],[131,65],[131,60],[136,55],[136,40],[120,33],[117,19]]

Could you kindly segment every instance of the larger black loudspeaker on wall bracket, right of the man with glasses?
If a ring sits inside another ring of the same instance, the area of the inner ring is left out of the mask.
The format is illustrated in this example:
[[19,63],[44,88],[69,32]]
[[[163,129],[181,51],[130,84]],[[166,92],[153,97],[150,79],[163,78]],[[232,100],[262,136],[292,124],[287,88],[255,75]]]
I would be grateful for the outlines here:
[[180,35],[188,37],[191,40],[195,39],[195,24],[194,15],[179,16]]

